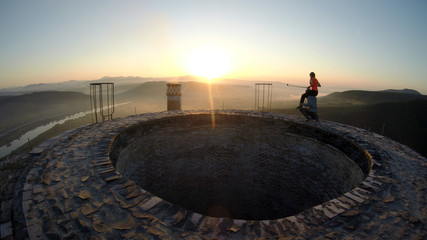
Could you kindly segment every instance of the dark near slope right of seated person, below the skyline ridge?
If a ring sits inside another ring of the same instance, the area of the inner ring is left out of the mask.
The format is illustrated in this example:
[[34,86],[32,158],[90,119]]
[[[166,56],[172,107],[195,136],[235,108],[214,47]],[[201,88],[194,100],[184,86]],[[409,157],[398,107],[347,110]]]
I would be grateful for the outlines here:
[[[301,115],[296,109],[276,112]],[[427,157],[427,100],[359,106],[319,106],[321,119],[382,134]]]

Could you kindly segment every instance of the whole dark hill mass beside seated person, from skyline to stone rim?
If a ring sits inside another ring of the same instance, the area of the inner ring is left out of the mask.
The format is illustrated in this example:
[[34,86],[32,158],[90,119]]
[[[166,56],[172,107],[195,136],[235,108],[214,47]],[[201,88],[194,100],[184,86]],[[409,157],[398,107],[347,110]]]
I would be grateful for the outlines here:
[[[382,134],[427,157],[427,96],[407,90],[346,91],[319,97],[321,119]],[[275,112],[301,115],[292,109]]]

